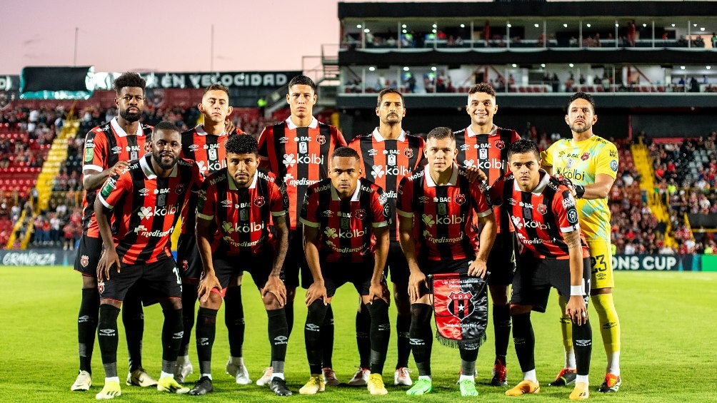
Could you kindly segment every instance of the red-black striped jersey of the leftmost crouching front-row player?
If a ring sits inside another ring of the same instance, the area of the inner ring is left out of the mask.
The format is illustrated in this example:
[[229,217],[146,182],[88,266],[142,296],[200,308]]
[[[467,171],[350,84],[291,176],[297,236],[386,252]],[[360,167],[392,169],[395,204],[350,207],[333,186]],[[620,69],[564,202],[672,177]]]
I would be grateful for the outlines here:
[[194,161],[180,158],[167,178],[159,178],[151,158],[133,160],[122,173],[110,176],[98,194],[112,210],[115,247],[126,265],[171,258],[174,225],[190,191],[201,185]]

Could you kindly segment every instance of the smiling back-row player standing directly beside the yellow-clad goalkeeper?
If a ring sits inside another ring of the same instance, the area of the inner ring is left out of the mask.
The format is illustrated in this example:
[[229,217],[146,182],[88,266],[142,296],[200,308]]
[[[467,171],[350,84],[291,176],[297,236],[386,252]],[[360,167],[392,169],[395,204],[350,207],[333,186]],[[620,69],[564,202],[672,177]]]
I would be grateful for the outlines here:
[[[470,116],[470,126],[455,133],[458,155],[456,162],[465,167],[478,167],[493,183],[508,171],[508,147],[521,139],[518,132],[503,129],[493,123],[498,112],[495,89],[490,84],[476,84],[468,90],[465,107]],[[493,301],[493,331],[495,332],[495,361],[493,362],[493,386],[508,384],[505,356],[511,338],[511,309],[508,306],[508,285],[513,282],[516,270],[513,227],[508,217],[495,208],[498,235],[488,256],[488,290]]]

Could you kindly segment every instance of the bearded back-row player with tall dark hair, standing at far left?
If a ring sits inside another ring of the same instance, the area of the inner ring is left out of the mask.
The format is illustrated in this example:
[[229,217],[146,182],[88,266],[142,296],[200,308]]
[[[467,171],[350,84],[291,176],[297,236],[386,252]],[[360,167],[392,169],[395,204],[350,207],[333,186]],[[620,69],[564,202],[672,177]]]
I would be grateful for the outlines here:
[[[82,273],[82,300],[77,318],[77,341],[80,346],[80,373],[70,390],[85,391],[92,386],[92,350],[95,346],[100,294],[97,288],[97,263],[102,254],[100,229],[95,220],[95,198],[98,189],[114,172],[127,167],[147,151],[152,127],[140,122],[145,106],[146,82],[136,73],[125,73],[114,81],[115,105],[119,116],[87,132],[82,166],[82,187],[85,188],[82,212],[82,238],[77,250],[75,270]],[[125,298],[122,320],[127,336],[130,373],[127,384],[149,387],[156,385],[142,368],[142,335],[144,315],[140,296],[130,291]]]

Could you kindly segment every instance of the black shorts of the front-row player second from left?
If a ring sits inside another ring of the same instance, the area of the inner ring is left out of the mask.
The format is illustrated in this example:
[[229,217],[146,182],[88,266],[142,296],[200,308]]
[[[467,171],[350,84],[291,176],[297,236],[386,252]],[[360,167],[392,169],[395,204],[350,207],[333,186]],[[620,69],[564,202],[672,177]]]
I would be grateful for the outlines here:
[[[265,251],[250,256],[221,255],[214,256],[214,275],[217,276],[222,290],[229,286],[229,281],[237,276],[242,276],[244,271],[252,273],[252,279],[257,288],[264,288],[269,279],[272,266],[274,265],[274,251],[272,248],[265,248]],[[282,278],[283,280],[283,278]]]

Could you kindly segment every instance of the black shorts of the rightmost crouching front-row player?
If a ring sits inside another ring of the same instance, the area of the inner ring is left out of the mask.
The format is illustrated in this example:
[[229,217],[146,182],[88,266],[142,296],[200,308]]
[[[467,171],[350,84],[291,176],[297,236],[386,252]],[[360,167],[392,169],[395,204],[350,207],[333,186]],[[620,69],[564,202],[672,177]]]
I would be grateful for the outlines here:
[[[583,299],[587,304],[590,295],[590,258],[583,259],[583,284]],[[526,253],[518,257],[511,304],[532,305],[533,311],[545,312],[551,287],[563,296],[570,295],[569,259],[538,259]]]

